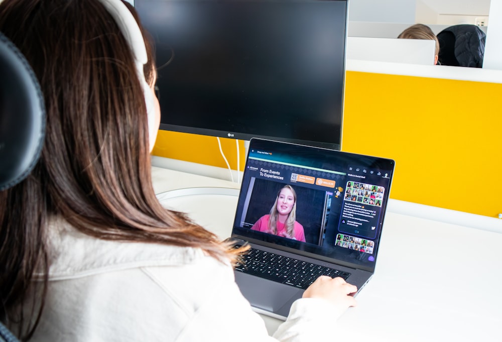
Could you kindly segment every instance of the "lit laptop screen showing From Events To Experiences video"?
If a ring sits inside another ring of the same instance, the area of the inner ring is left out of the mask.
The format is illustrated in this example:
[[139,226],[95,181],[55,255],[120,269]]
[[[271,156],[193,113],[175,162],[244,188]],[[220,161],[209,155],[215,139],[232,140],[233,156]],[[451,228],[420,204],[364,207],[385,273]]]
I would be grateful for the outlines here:
[[394,165],[252,139],[232,236],[373,271]]

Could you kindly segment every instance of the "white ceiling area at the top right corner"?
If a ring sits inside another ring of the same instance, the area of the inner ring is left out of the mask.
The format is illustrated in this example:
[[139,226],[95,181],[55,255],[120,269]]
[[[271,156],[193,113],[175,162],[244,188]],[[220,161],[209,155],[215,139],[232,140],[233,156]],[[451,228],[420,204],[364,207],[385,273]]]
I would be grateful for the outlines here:
[[418,0],[440,15],[487,16],[490,0]]

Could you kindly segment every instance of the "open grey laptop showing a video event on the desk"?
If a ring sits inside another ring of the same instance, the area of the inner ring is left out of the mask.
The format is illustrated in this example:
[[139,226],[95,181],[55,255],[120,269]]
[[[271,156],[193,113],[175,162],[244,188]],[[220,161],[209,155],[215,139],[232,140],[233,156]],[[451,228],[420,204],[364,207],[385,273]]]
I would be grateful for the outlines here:
[[254,309],[285,319],[321,274],[358,292],[372,277],[395,162],[251,139],[231,239],[249,244],[235,280]]

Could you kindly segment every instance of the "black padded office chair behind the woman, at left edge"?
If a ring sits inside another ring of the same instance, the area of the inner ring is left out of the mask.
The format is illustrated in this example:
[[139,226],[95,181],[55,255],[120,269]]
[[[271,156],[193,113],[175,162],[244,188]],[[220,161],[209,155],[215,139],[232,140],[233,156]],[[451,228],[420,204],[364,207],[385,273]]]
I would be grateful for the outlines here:
[[[40,157],[45,136],[45,104],[32,68],[2,33],[0,75],[0,191],[3,191],[26,178]],[[17,341],[0,324],[0,342]]]

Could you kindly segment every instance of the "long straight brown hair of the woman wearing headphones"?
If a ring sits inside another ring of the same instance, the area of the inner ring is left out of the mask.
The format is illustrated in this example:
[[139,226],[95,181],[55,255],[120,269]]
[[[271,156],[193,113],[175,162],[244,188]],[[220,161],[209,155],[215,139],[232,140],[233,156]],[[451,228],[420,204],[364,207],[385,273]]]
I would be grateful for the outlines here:
[[[40,161],[26,180],[0,192],[4,322],[19,326],[16,333],[24,339],[38,324],[48,284],[46,225],[53,216],[98,239],[196,247],[235,262],[237,253],[214,234],[157,200],[133,56],[98,1],[6,0],[0,31],[33,67],[47,109]],[[145,75],[152,82],[152,48],[146,42]],[[42,295],[32,310],[19,311],[27,307],[35,271],[45,275],[35,282]]]

